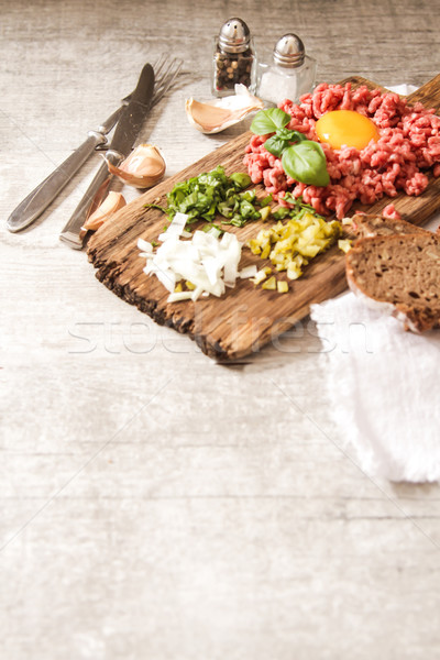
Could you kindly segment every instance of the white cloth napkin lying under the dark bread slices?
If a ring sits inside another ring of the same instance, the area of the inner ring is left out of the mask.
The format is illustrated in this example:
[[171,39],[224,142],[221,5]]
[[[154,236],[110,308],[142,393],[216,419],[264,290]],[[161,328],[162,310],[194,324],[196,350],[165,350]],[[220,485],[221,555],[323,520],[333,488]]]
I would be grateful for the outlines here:
[[406,332],[352,293],[314,305],[311,318],[339,437],[360,468],[396,482],[439,481],[440,330]]

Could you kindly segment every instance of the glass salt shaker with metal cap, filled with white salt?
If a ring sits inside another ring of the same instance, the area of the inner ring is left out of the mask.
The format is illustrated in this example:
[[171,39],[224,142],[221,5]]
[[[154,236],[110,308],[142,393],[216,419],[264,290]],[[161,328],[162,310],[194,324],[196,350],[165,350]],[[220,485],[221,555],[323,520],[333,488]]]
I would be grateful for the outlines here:
[[315,76],[316,61],[306,55],[304,43],[290,32],[277,41],[273,64],[261,66],[257,96],[273,103],[284,99],[297,102],[312,90]]

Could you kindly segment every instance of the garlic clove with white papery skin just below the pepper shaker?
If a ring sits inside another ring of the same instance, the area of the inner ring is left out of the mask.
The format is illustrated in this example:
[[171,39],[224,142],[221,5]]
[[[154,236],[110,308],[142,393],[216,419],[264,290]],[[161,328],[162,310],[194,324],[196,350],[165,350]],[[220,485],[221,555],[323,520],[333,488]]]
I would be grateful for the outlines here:
[[244,85],[235,85],[234,96],[200,103],[190,98],[185,101],[189,122],[207,135],[220,133],[238,123],[246,114],[264,108],[264,102],[253,96]]

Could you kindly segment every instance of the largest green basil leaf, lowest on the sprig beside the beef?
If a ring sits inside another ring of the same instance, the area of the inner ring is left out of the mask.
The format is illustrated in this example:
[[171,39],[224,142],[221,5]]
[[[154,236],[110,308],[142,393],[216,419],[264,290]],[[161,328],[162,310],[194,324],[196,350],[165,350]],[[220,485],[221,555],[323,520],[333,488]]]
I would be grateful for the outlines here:
[[328,186],[326,155],[318,142],[304,140],[286,148],[282,165],[287,176],[307,186]]

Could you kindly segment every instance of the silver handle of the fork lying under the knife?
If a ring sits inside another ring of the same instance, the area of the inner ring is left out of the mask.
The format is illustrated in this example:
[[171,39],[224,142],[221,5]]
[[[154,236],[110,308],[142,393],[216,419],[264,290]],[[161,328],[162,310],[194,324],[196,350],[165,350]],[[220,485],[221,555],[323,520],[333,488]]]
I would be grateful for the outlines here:
[[20,231],[36,220],[94,150],[106,142],[101,133],[90,131],[87,140],[12,211],[7,220],[9,231]]

